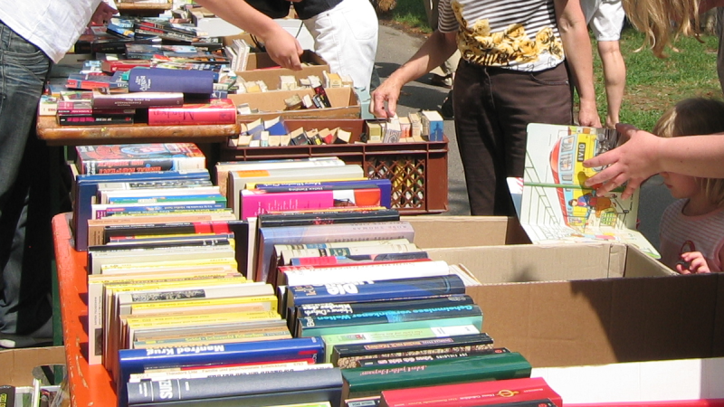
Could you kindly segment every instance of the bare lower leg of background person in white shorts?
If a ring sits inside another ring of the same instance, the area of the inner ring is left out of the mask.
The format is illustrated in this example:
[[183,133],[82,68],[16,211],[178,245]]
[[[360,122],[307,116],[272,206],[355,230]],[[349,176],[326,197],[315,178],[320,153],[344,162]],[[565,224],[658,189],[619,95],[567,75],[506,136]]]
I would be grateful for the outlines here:
[[626,87],[626,64],[618,41],[599,41],[598,54],[604,68],[605,99],[607,105],[605,127],[615,128],[619,121]]

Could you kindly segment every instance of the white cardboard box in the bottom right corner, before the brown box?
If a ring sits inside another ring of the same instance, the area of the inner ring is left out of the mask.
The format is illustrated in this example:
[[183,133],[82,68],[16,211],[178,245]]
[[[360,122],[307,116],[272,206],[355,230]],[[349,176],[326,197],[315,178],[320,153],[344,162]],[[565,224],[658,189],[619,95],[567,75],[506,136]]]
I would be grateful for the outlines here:
[[724,399],[724,358],[721,357],[534,367],[531,376],[546,379],[567,406],[611,402],[653,405],[654,402]]

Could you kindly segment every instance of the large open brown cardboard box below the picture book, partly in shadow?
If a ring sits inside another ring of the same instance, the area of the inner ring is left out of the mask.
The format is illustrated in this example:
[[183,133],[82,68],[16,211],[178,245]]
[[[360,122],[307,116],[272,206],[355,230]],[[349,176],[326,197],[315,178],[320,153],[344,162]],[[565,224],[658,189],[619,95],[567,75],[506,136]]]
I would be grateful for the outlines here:
[[724,355],[724,275],[680,276],[618,243],[516,244],[515,219],[405,219],[433,260],[481,280],[468,292],[484,331],[535,367]]

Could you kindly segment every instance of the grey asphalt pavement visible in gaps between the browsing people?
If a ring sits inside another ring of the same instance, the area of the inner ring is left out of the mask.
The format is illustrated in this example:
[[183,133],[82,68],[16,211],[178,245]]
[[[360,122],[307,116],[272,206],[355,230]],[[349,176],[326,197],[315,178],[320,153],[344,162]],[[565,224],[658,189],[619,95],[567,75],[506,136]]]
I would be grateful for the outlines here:
[[[380,80],[385,80],[400,65],[405,63],[424,42],[419,35],[405,33],[385,24],[379,26],[379,43],[377,45],[376,69]],[[600,74],[600,72],[595,72]],[[448,90],[430,85],[430,74],[405,85],[400,94],[399,114],[407,114],[420,109],[440,109]],[[635,123],[633,123],[635,125]],[[448,145],[448,202],[450,210],[442,215],[469,215],[467,188],[462,163],[455,141],[455,128],[452,119],[445,120],[445,135],[450,140]],[[659,222],[663,209],[673,201],[662,180],[654,176],[644,183],[639,198],[639,231],[659,246]]]

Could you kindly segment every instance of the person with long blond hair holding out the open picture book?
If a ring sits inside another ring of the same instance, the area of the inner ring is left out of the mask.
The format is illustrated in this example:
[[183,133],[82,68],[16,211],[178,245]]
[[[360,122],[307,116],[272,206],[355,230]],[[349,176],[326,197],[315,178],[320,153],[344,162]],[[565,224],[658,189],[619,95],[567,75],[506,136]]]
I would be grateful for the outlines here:
[[[623,0],[624,10],[636,29],[645,34],[645,42],[654,55],[664,57],[676,35],[700,33],[699,14],[724,6],[724,0]],[[671,24],[677,16],[681,24]],[[607,166],[586,181],[606,194],[625,184],[622,197],[633,194],[643,181],[661,173],[724,177],[724,136],[661,138],[629,124],[617,124],[628,141],[600,156],[586,160],[584,166]]]

